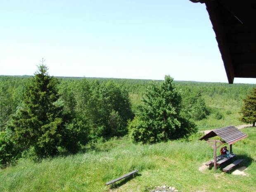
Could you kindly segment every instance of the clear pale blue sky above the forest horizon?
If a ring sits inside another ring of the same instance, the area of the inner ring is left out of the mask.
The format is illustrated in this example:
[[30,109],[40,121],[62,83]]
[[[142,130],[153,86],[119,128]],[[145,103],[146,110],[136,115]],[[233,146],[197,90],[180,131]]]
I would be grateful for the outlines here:
[[[228,83],[206,7],[189,0],[0,0],[0,75]],[[234,83],[256,83],[235,78]]]

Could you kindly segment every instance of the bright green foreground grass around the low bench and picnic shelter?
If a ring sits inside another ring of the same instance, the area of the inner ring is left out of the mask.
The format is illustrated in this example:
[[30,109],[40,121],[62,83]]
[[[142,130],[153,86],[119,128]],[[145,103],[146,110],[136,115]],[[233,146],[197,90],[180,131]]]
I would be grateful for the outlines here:
[[249,176],[199,171],[213,156],[205,141],[172,141],[134,145],[128,137],[98,143],[95,149],[34,163],[20,159],[17,166],[0,170],[0,191],[108,192],[104,184],[138,169],[137,175],[116,183],[116,192],[146,192],[150,186],[169,185],[179,191],[256,191],[256,128],[242,129],[249,137],[233,145]]

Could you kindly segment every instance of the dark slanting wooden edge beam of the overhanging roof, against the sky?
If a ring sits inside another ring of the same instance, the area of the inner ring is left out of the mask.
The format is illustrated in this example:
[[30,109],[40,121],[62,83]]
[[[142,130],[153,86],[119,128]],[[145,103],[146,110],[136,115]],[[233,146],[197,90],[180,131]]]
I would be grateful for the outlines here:
[[228,83],[233,84],[235,73],[230,55],[230,47],[228,46],[227,34],[225,33],[222,16],[220,14],[220,3],[218,1],[211,1],[205,2],[205,5],[213,25],[213,30],[216,34],[216,40],[225,66]]

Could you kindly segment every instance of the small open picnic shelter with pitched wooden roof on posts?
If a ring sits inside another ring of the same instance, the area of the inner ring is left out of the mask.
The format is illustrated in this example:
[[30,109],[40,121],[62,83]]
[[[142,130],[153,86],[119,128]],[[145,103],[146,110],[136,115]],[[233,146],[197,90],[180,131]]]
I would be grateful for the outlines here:
[[[219,136],[222,140],[211,140],[210,138]],[[206,140],[213,148],[214,153],[214,169],[217,169],[217,149],[223,144],[227,143],[230,146],[230,153],[232,153],[232,144],[248,137],[242,131],[238,130],[235,126],[227,126],[219,129],[214,129],[208,134],[201,137],[199,140]],[[211,143],[213,142],[213,144]],[[217,146],[217,142],[219,145]]]

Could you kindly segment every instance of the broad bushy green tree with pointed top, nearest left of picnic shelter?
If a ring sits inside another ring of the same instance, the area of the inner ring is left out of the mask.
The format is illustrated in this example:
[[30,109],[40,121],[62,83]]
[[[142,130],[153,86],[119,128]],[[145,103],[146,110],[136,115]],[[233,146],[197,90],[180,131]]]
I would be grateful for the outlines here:
[[133,142],[155,143],[175,140],[195,133],[194,123],[180,116],[181,90],[172,84],[173,78],[165,76],[163,83],[151,83],[139,105],[129,130]]

